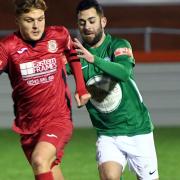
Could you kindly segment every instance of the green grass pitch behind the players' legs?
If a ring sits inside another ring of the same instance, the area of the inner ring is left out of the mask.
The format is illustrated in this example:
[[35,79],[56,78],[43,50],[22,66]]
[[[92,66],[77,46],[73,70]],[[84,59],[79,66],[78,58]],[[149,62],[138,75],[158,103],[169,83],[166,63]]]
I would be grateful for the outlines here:
[[[161,180],[180,179],[180,127],[156,128],[154,138]],[[66,180],[98,180],[95,160],[96,133],[93,129],[75,129],[62,161]],[[0,129],[0,180],[33,180],[32,170],[11,130]],[[128,171],[125,180],[135,180]]]

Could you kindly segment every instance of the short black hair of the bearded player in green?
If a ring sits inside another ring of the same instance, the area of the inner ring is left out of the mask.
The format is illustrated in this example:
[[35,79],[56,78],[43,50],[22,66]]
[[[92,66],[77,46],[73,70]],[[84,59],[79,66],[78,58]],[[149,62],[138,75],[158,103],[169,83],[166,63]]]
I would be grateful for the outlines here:
[[103,8],[98,3],[98,1],[96,1],[96,0],[82,0],[82,1],[80,1],[79,4],[76,7],[76,15],[78,15],[78,13],[80,11],[87,10],[87,9],[90,9],[90,8],[96,9],[96,12],[100,16],[104,16]]

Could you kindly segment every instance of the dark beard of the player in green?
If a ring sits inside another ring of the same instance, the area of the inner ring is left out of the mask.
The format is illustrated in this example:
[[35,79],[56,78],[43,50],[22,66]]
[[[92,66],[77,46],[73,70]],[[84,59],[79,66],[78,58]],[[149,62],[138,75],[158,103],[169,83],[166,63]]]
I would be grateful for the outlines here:
[[94,46],[101,40],[102,36],[103,36],[103,29],[102,27],[99,27],[93,39],[84,36],[83,41],[89,46]]

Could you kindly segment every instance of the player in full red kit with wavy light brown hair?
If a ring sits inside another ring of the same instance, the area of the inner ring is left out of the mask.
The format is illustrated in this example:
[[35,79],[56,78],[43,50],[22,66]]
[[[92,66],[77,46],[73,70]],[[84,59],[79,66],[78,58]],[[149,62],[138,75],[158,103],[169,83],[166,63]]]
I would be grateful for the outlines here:
[[73,129],[64,60],[73,69],[78,105],[90,94],[66,28],[45,28],[44,0],[14,3],[19,30],[0,42],[0,73],[8,74],[13,88],[13,130],[21,136],[35,179],[63,180],[58,164]]

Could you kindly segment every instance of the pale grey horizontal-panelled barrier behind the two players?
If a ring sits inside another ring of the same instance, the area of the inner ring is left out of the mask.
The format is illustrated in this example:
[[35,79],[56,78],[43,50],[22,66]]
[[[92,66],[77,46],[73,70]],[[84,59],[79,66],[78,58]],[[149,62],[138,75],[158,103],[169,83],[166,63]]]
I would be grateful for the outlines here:
[[[180,63],[136,64],[136,82],[149,107],[154,124],[157,126],[180,126]],[[74,79],[68,83],[72,96]],[[13,120],[11,88],[6,74],[0,76],[0,128],[10,127]],[[90,127],[91,122],[84,108],[76,108],[73,99],[75,127]]]

